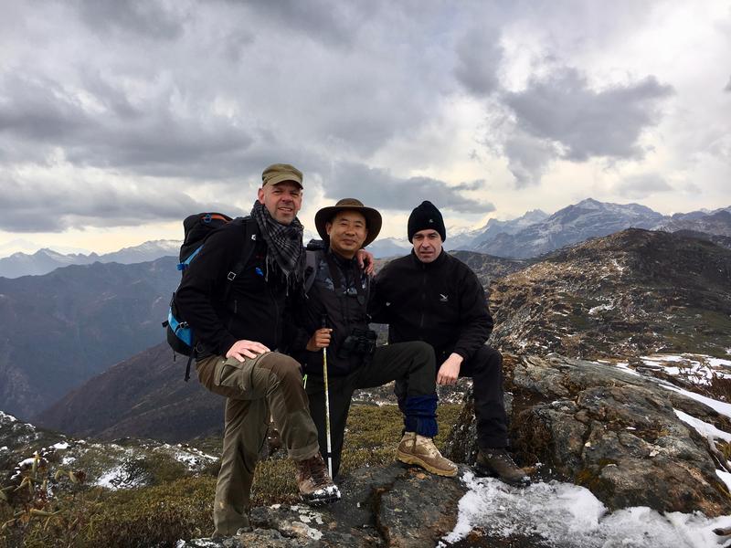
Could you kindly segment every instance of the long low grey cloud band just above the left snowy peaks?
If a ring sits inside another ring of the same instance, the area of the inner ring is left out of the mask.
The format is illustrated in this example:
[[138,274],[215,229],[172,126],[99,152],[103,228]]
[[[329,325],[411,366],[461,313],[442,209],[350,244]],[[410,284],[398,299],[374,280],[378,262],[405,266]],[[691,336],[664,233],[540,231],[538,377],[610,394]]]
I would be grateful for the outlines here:
[[[61,232],[69,227],[135,226],[179,220],[196,211],[226,211],[245,215],[224,202],[201,203],[175,184],[123,188],[112,184],[25,183],[4,178],[0,184],[0,230]],[[252,199],[253,203],[253,199]],[[33,219],[29,222],[28,219]]]

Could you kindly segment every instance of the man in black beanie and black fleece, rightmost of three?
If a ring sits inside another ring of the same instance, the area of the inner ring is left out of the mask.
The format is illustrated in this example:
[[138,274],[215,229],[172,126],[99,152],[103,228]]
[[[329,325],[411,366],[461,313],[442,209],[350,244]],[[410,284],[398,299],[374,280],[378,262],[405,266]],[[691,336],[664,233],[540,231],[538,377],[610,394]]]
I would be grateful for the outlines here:
[[[376,276],[371,315],[388,324],[388,342],[426,341],[434,347],[438,384],[472,377],[480,448],[475,469],[478,475],[525,485],[530,480],[505,450],[503,357],[485,344],[493,331],[485,292],[474,272],[442,249],[446,239],[440,210],[422,202],[408,217],[414,248]],[[400,406],[406,383],[397,382],[396,392]]]

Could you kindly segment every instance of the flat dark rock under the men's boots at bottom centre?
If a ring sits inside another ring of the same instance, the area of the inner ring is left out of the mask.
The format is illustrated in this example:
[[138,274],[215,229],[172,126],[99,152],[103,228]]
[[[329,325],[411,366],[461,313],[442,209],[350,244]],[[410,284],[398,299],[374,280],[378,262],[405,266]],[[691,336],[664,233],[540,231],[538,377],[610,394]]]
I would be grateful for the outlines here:
[[251,531],[230,539],[191,540],[179,548],[434,546],[454,528],[457,506],[467,491],[460,479],[400,464],[357,469],[338,483],[343,499],[331,506],[254,508]]

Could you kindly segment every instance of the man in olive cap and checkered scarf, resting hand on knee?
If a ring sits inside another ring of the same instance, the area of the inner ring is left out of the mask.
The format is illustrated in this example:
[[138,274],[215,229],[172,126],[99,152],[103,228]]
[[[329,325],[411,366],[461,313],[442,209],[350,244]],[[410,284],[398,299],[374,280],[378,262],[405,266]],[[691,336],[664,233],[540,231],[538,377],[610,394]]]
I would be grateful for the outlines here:
[[[202,385],[223,395],[226,416],[214,523],[217,536],[249,526],[245,514],[270,416],[297,468],[302,500],[336,501],[340,492],[320,456],[317,428],[302,389],[300,364],[281,347],[285,297],[302,287],[304,251],[302,173],[275,163],[261,176],[247,240],[239,223],[207,237],[190,262],[175,303],[196,333],[196,371]],[[231,278],[242,249],[254,246]]]

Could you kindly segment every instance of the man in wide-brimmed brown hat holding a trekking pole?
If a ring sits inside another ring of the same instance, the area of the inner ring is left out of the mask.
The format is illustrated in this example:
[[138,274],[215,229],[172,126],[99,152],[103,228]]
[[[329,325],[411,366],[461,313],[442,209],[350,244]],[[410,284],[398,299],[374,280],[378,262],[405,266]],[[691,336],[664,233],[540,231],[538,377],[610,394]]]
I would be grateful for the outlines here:
[[290,352],[307,373],[310,413],[325,456],[323,349],[327,349],[333,477],[340,468],[355,389],[407,378],[402,406],[406,434],[397,459],[434,474],[455,476],[457,467],[441,456],[432,441],[437,435],[434,352],[425,342],[376,347],[376,333],[368,329],[370,278],[357,268],[355,253],[376,239],[381,215],[354,198],[345,198],[318,211],[315,227],[326,248],[307,251],[312,272],[305,282],[307,293],[295,310]]

